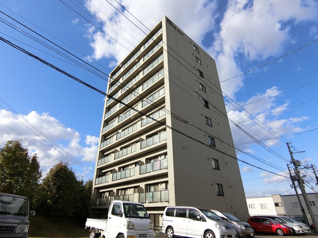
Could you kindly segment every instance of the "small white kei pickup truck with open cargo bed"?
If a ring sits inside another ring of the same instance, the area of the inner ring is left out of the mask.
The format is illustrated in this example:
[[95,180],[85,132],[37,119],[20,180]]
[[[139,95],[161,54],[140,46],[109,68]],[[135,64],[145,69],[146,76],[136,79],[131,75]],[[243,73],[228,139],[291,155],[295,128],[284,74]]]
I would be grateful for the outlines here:
[[89,238],[155,238],[154,225],[142,203],[113,200],[107,219],[87,218]]

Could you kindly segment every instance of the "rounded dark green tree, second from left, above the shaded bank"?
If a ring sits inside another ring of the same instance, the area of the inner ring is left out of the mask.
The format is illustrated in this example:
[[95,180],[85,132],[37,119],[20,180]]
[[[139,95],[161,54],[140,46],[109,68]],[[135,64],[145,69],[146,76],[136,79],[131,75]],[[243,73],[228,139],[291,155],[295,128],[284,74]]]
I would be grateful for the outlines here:
[[68,164],[60,162],[50,169],[42,182],[47,194],[46,211],[52,216],[74,216],[80,204],[81,184]]

